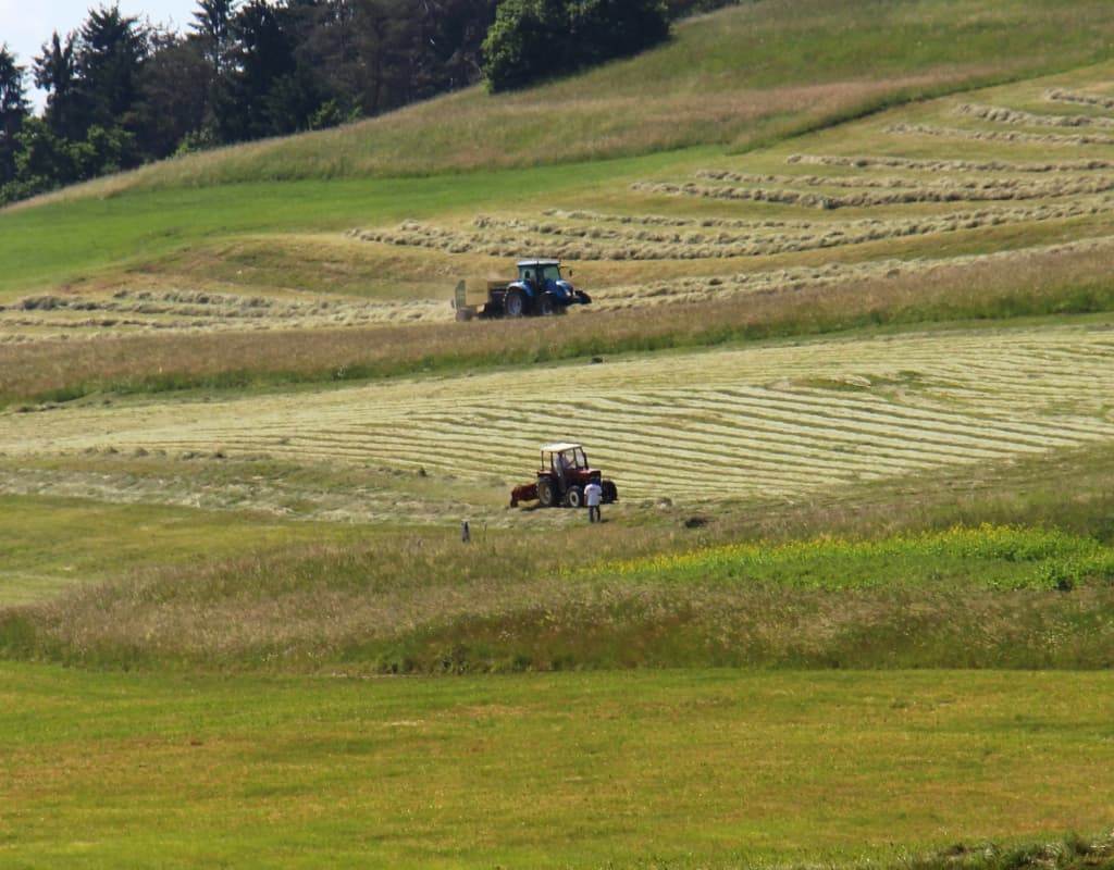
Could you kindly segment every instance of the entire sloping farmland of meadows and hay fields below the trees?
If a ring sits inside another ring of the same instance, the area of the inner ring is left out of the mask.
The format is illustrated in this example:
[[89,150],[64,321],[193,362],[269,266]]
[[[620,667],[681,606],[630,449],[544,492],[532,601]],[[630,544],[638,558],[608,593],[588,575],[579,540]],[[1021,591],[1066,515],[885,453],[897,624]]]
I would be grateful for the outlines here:
[[762,0],[0,211],[0,866],[1114,867],[1112,36]]

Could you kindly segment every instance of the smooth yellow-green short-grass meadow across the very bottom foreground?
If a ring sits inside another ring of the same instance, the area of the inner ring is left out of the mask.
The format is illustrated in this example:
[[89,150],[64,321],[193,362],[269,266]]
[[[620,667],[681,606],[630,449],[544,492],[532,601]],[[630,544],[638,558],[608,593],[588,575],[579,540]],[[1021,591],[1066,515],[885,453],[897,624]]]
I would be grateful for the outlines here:
[[1016,870],[989,859],[1108,823],[1108,683],[4,664],[0,837],[7,863],[77,868],[907,866],[993,839],[951,852]]

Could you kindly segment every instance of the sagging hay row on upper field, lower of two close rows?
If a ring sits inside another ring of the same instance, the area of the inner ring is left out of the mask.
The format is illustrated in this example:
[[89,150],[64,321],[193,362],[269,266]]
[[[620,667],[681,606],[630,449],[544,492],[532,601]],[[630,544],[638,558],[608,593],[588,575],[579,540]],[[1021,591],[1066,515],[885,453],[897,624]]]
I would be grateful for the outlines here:
[[[807,183],[807,182],[805,182]],[[858,186],[858,185],[853,185]],[[820,194],[786,187],[736,187],[686,182],[635,182],[632,189],[667,196],[693,196],[705,199],[729,199],[754,203],[776,203],[807,208],[833,211],[837,208],[874,208],[888,205],[917,203],[1012,202],[1019,199],[1049,199],[1066,196],[1086,196],[1114,189],[1114,177],[1058,179],[1056,183],[1037,184],[1016,182],[986,187],[944,183],[939,186],[917,186],[906,189],[862,190],[850,194]]]

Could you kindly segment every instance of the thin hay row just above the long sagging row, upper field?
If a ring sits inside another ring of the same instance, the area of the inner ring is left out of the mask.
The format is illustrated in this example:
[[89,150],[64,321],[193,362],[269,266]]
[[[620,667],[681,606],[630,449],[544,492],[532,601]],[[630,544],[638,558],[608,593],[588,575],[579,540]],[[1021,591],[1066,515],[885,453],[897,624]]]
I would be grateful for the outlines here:
[[799,184],[805,187],[843,187],[873,188],[890,190],[909,190],[913,194],[922,192],[940,192],[942,194],[973,194],[960,196],[960,199],[1045,199],[1059,196],[1078,196],[1100,194],[1114,189],[1114,176],[1055,176],[1051,179],[1033,180],[1032,178],[941,178],[935,182],[924,182],[918,178],[901,176],[828,176],[828,175],[752,175],[735,173],[727,169],[698,169],[697,178],[712,182],[733,182],[736,184]]

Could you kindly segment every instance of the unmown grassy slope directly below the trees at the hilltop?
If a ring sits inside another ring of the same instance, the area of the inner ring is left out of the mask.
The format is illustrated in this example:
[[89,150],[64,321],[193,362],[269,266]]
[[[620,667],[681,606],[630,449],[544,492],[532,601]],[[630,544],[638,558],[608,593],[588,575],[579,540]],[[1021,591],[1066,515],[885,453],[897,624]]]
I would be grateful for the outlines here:
[[80,195],[442,173],[742,146],[912,96],[1110,57],[1100,0],[761,0],[520,94],[479,88],[340,130],[172,160]]

